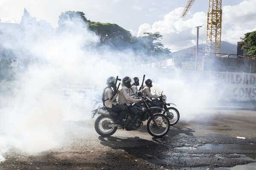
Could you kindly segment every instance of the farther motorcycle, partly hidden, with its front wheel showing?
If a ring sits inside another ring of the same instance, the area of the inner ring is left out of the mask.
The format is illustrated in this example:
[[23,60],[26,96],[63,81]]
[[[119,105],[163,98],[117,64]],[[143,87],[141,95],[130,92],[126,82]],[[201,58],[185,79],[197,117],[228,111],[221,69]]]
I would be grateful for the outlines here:
[[[156,94],[156,90],[154,90],[154,93]],[[151,100],[151,106],[163,108],[165,111],[165,112],[163,112],[163,114],[165,114],[168,117],[168,119],[170,121],[170,125],[173,126],[179,121],[180,113],[176,108],[169,107],[169,106],[175,105],[175,104],[174,103],[166,103],[167,97],[166,97],[166,95],[163,95],[163,91],[159,92],[159,95],[161,96],[159,99]],[[177,106],[177,105],[175,105],[175,106]]]

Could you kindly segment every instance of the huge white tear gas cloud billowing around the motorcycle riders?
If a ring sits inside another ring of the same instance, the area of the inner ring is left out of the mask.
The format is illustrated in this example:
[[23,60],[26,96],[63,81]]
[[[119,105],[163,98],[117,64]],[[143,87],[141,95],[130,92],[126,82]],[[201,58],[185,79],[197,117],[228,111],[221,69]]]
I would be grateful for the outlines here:
[[[143,74],[154,79],[152,89],[163,90],[167,102],[177,105],[180,121],[192,119],[216,97],[209,90],[212,84],[198,82],[196,74],[184,77],[176,69],[165,73],[140,68],[132,60],[132,51],[96,50],[99,37],[81,20],[65,22],[64,30],[55,30],[45,21],[24,25],[23,31],[1,30],[0,43],[12,51],[19,66],[12,81],[0,82],[0,161],[11,148],[38,153],[59,147],[65,121],[82,120],[87,128],[91,99],[101,96],[110,76],[140,77],[140,83]],[[65,97],[61,89],[67,85],[98,85],[99,90],[86,96],[70,91]]]

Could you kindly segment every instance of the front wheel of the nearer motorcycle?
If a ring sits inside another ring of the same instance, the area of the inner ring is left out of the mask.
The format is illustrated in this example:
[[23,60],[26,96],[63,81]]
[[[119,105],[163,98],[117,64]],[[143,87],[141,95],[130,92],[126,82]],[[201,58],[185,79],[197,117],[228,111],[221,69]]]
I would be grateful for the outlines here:
[[154,120],[149,118],[147,123],[148,133],[156,138],[165,136],[170,129],[169,119],[162,113],[156,113],[154,117],[159,128],[155,125]]

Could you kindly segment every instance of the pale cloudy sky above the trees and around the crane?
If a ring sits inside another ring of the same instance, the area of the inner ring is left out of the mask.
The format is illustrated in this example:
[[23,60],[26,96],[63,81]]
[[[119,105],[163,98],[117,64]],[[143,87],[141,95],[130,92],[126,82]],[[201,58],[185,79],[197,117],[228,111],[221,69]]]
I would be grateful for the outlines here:
[[[58,27],[65,11],[82,11],[87,19],[115,23],[135,36],[159,31],[163,44],[172,52],[206,41],[208,0],[195,0],[184,18],[187,0],[1,0],[1,22],[20,23],[24,8],[37,20]],[[256,0],[222,0],[221,40],[237,44],[245,33],[256,30]]]

